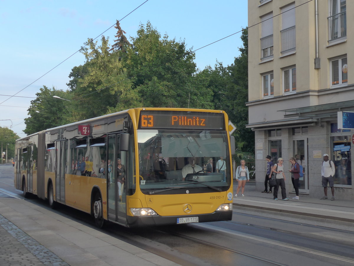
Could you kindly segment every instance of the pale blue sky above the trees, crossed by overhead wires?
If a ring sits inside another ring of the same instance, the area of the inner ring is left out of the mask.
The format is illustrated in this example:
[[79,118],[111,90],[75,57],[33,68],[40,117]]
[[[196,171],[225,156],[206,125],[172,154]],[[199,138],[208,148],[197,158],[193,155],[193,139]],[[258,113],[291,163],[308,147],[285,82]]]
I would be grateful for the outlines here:
[[[145,0],[0,0],[1,72],[0,102],[14,95],[80,49],[87,38],[96,38],[116,20]],[[185,39],[187,48],[198,49],[247,26],[246,0],[149,0],[121,20],[127,38],[136,35],[140,23],[152,23],[161,35]],[[113,43],[115,28],[103,33]],[[242,46],[241,34],[196,51],[200,70],[234,62]],[[98,38],[100,40],[100,38]],[[67,90],[74,66],[84,63],[78,52],[16,96],[35,97],[43,85]],[[11,126],[20,137],[31,98],[12,97],[0,106],[0,126]],[[4,106],[7,105],[7,106]],[[18,107],[13,107],[18,106]],[[10,121],[11,120],[11,121]]]

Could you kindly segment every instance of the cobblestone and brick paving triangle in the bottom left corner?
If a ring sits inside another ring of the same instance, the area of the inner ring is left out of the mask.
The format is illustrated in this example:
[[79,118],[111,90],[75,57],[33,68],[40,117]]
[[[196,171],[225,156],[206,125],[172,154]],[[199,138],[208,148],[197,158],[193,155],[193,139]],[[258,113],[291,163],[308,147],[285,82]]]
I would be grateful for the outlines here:
[[0,214],[1,266],[67,266],[65,261]]

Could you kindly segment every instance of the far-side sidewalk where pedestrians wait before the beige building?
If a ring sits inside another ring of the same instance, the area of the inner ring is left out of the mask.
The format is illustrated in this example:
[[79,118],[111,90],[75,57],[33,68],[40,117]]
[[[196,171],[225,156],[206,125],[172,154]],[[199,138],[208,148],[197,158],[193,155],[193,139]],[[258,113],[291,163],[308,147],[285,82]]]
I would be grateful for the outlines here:
[[[327,200],[310,198],[308,195],[299,194],[300,199],[292,199],[295,193],[288,193],[290,200],[281,200],[281,189],[279,188],[279,200],[273,199],[273,193],[261,193],[255,190],[255,184],[246,183],[244,197],[241,196],[241,190],[238,197],[234,197],[234,210],[238,207],[247,207],[258,210],[275,211],[283,214],[295,214],[308,216],[312,218],[321,218],[333,222],[345,222],[354,228],[354,209],[353,201],[333,200],[331,196]],[[237,182],[234,184],[234,195],[237,189]],[[331,192],[329,191],[329,195]]]

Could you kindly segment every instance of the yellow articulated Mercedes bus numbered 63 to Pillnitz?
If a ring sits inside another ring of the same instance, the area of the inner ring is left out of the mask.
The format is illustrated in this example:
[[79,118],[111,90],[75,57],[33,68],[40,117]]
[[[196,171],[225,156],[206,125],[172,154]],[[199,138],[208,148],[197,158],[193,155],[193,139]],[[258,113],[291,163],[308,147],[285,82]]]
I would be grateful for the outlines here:
[[18,139],[15,187],[98,227],[227,221],[234,147],[224,111],[129,109]]

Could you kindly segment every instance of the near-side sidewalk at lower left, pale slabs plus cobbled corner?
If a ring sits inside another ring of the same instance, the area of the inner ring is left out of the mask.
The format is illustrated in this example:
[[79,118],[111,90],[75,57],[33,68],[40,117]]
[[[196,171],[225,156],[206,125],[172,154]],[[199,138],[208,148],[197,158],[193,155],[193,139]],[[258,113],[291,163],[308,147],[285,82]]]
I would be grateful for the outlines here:
[[0,265],[177,265],[30,201],[0,193]]

